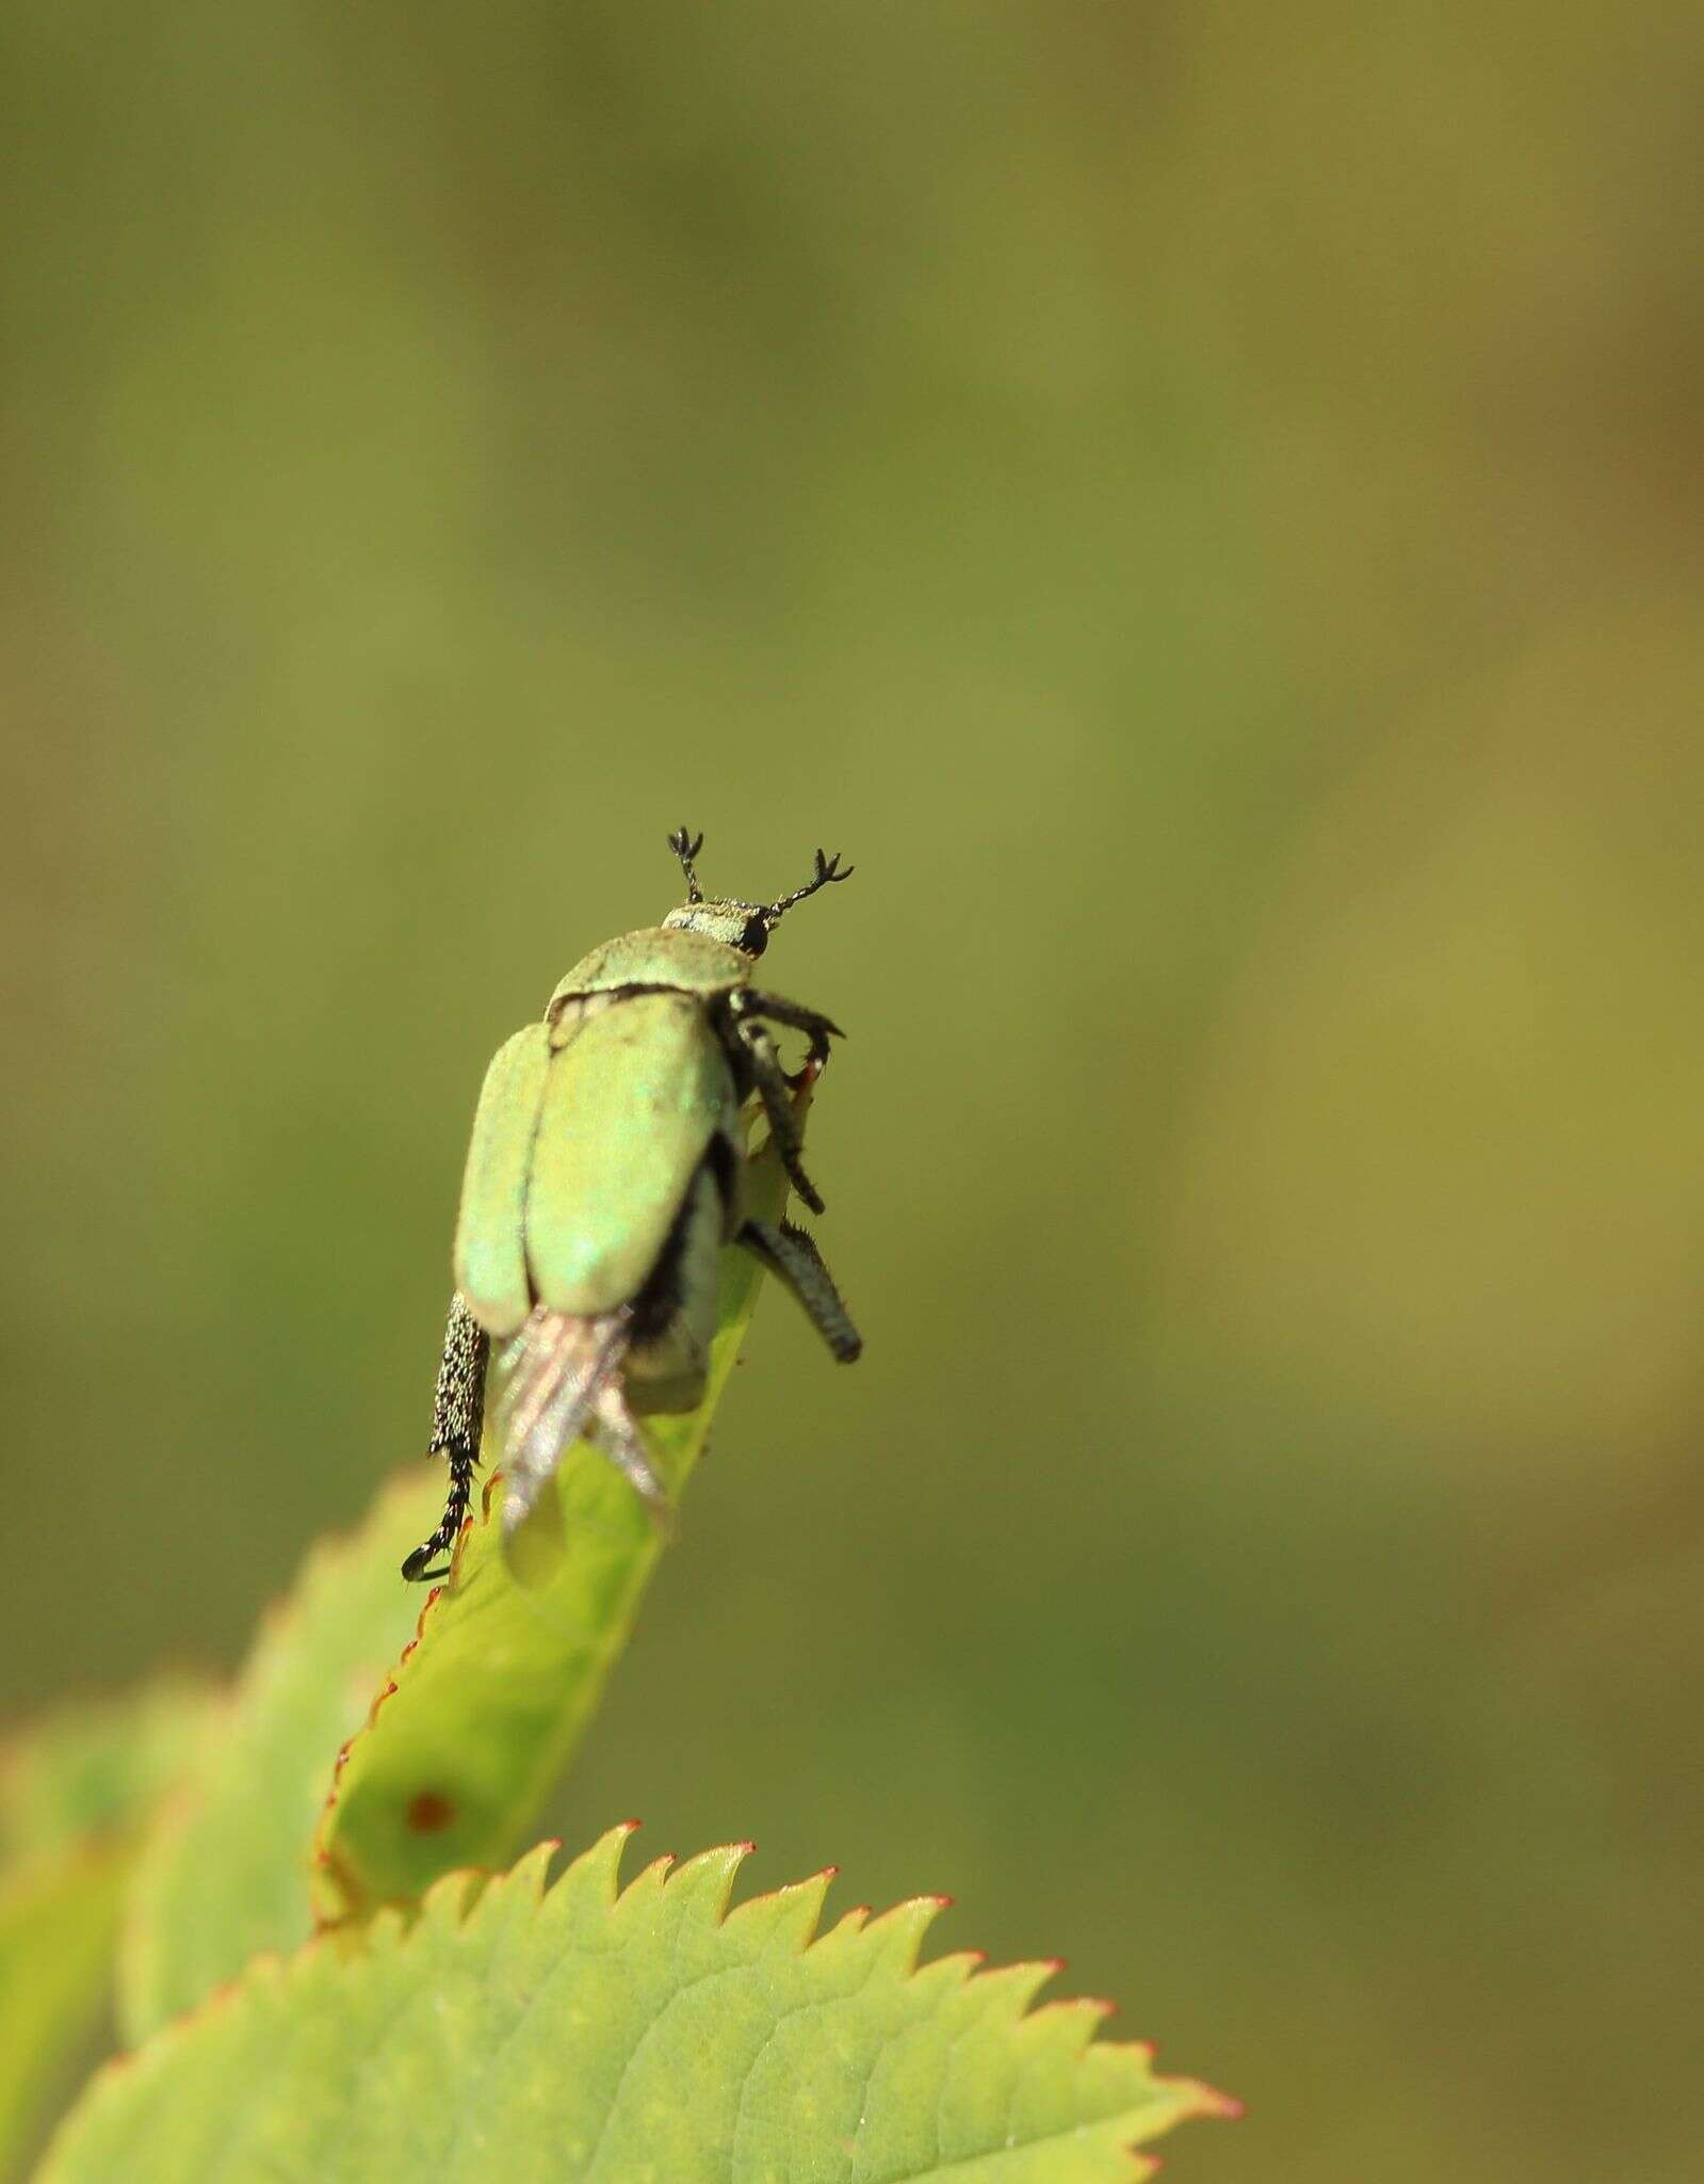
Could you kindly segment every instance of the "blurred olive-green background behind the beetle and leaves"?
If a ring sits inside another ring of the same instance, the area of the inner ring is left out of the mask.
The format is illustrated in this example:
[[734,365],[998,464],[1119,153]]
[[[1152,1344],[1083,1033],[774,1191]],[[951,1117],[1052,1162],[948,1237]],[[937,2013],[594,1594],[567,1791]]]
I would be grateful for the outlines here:
[[9,7],[2,1710],[240,1658],[491,1048],[820,841],[866,1358],[766,1302],[559,1826],[1065,1950],[1178,2177],[1693,2180],[1700,61]]

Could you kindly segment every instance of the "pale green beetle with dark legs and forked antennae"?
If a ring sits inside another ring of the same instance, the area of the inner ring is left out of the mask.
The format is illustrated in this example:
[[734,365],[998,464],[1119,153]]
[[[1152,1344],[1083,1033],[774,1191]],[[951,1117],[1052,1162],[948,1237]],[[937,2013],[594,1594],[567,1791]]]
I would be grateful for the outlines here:
[[[812,1238],[742,1208],[742,1107],[755,1092],[794,1190],[823,1212],[801,1166],[792,1094],[842,1033],[753,987],[751,970],[788,911],[851,867],[818,850],[816,871],[790,895],[737,902],[698,887],[703,834],[681,828],[668,843],[687,900],[661,926],[583,957],[543,1022],[517,1031],[487,1070],[432,1406],[430,1452],[449,1461],[449,1496],[439,1529],[404,1562],[408,1579],[445,1575],[434,1562],[467,1516],[493,1341],[504,1345],[506,1538],[585,1428],[652,1507],[668,1505],[635,1413],[700,1402],[724,1243],[792,1289],[836,1358],[862,1350]],[[781,1068],[768,1024],[809,1037],[799,1077]]]

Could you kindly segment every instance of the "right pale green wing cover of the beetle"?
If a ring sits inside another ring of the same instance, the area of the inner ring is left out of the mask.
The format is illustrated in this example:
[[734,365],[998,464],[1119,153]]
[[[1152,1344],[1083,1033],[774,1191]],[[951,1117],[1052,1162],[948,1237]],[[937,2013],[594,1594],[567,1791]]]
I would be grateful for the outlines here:
[[624,996],[563,1033],[532,1138],[526,1267],[552,1310],[609,1313],[650,1280],[711,1136],[735,1138],[737,1101],[687,994]]

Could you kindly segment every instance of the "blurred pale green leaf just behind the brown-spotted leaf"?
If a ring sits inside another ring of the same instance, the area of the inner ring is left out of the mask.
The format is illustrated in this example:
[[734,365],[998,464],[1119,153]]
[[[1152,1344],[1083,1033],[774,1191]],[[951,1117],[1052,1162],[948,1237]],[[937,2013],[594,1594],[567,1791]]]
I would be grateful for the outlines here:
[[397,1559],[436,1522],[443,1481],[380,1494],[362,1527],[316,1548],[262,1625],[223,1734],[161,1815],[142,1859],[118,1959],[118,2016],[142,2040],[236,1979],[257,1950],[312,1933],[308,1841],[332,1756],[353,1734],[419,1616]]

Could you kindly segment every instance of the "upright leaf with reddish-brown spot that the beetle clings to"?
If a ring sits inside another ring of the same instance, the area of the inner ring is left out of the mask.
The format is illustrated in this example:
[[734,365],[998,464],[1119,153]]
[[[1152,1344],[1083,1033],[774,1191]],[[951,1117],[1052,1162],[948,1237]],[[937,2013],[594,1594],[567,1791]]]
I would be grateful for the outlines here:
[[[759,1151],[748,1173],[753,1214],[779,1219],[785,1192],[779,1160]],[[703,1452],[757,1286],[753,1256],[727,1249],[705,1400],[689,1415],[646,1420],[657,1470],[676,1498]],[[535,1524],[559,1527],[559,1538],[526,1586],[504,1566],[491,1509],[487,1487],[449,1581],[421,1614],[419,1642],[338,1762],[314,1843],[323,1920],[367,1915],[421,1896],[439,1874],[511,1859],[628,1640],[663,1540],[596,1448],[580,1441],[556,1474],[554,1498],[543,1498]]]

